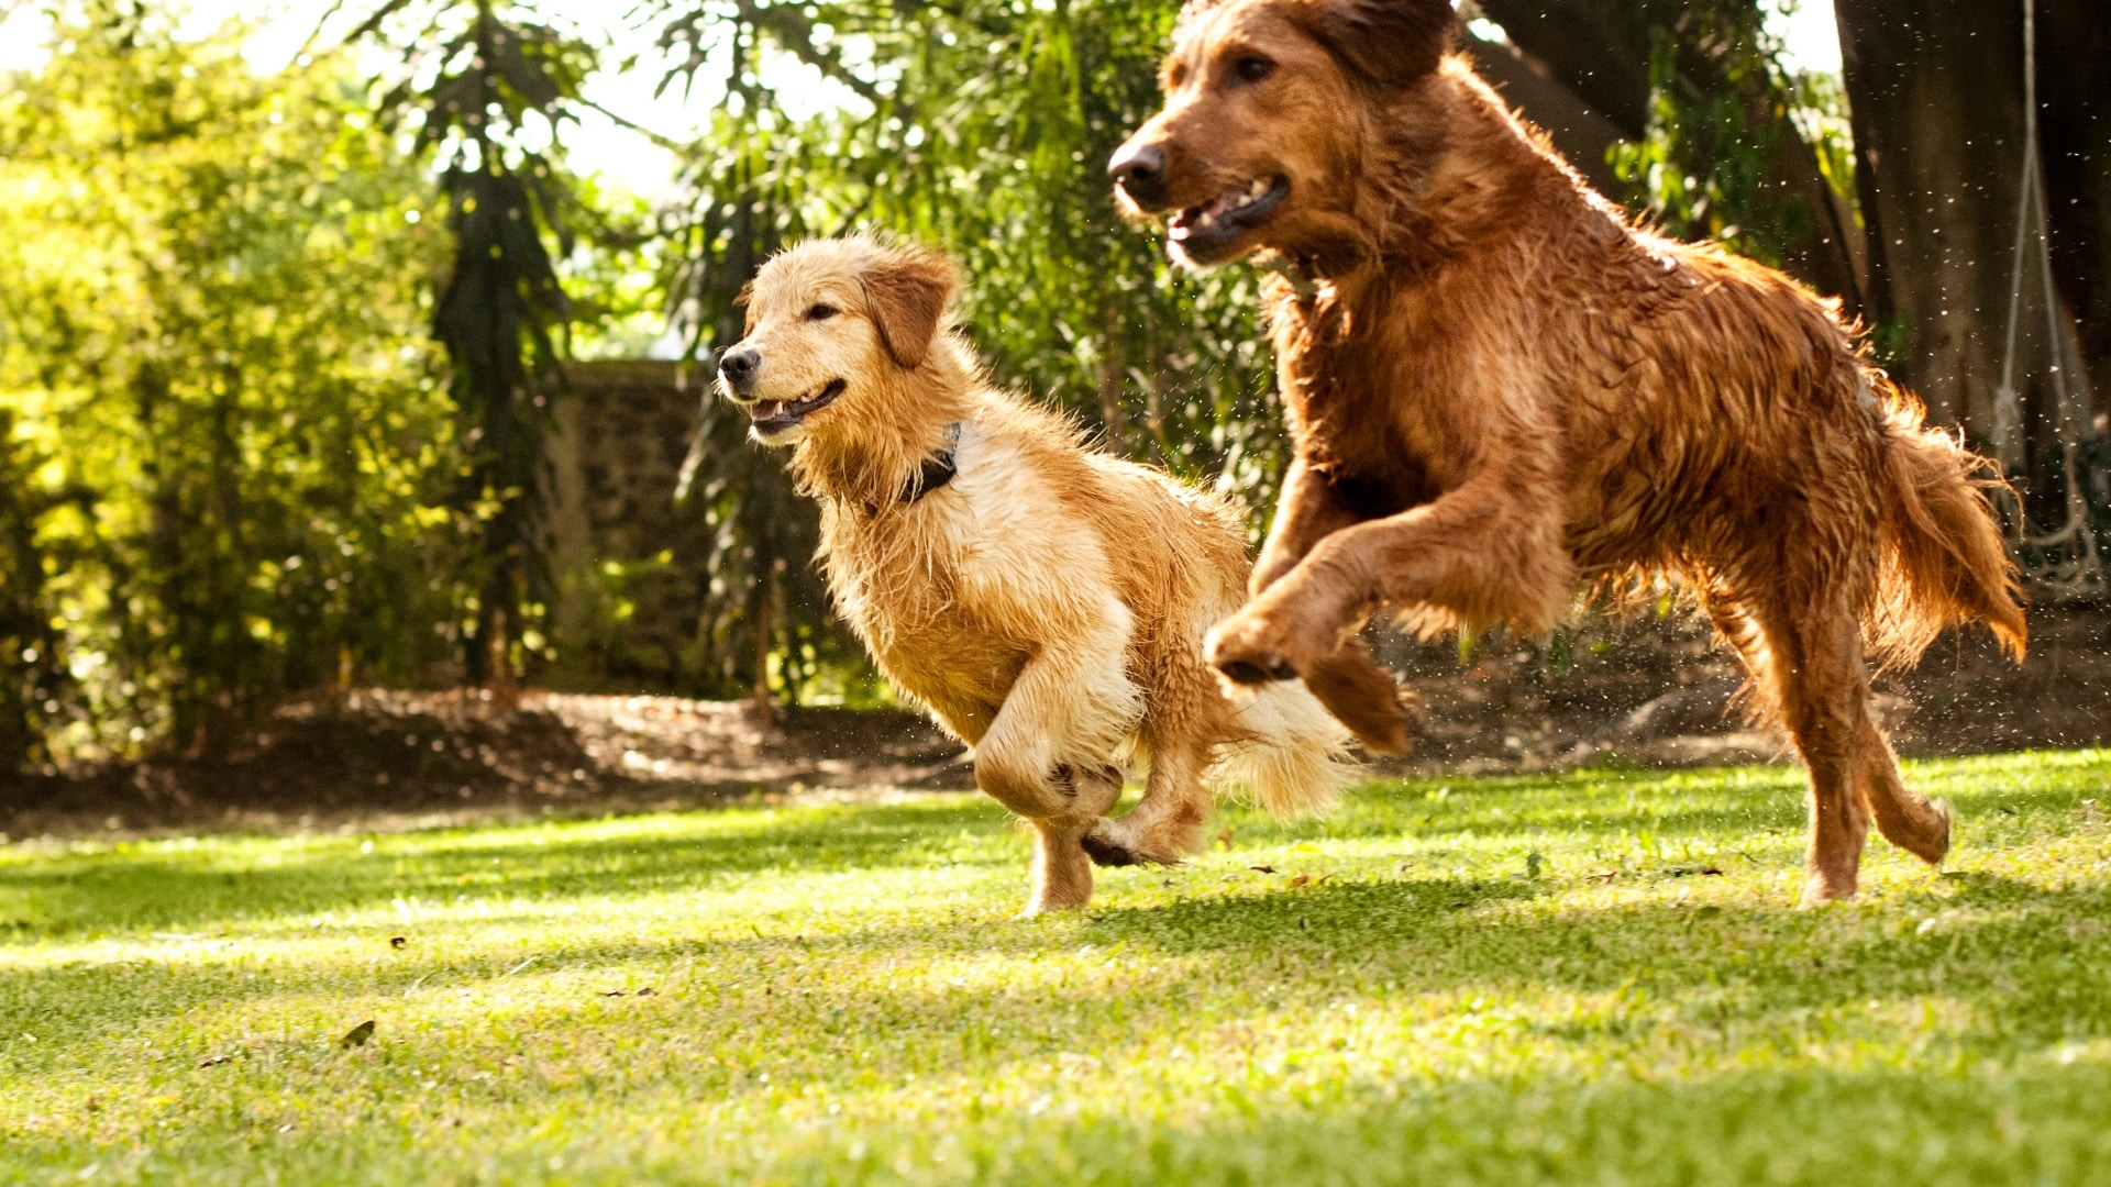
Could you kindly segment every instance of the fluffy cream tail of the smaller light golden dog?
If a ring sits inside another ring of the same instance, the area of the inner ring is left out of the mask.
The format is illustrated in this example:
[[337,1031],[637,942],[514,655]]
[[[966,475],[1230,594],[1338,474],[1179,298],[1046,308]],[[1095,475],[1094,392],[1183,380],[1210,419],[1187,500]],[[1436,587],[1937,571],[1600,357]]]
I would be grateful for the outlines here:
[[1349,731],[1300,680],[1260,689],[1235,720],[1250,737],[1224,746],[1203,775],[1218,792],[1252,796],[1279,817],[1321,813],[1357,775]]

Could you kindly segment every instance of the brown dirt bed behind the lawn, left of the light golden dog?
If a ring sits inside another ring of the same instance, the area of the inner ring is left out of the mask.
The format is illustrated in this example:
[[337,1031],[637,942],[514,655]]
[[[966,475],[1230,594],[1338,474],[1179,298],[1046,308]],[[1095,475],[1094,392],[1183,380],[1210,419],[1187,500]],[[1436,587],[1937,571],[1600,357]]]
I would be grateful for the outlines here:
[[600,813],[749,796],[973,786],[961,748],[920,714],[682,697],[365,689],[283,705],[217,758],[152,758],[0,779],[11,834],[192,822],[443,819],[492,809]]

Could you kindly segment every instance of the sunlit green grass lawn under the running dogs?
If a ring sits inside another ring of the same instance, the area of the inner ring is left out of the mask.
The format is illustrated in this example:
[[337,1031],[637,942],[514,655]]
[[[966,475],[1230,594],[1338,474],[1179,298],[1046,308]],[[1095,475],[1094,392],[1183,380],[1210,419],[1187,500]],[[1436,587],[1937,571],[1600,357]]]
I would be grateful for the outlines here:
[[1226,813],[1037,921],[969,796],[15,843],[0,1174],[2111,1183],[2111,752],[1910,777],[1951,872],[1824,910],[1788,769]]

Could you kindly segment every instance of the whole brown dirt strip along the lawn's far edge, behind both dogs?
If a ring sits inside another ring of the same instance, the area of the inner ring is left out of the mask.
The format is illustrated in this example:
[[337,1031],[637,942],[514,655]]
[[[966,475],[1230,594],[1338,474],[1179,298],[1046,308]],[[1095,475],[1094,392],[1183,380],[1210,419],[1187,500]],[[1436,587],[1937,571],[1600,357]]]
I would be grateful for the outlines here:
[[[1877,682],[1908,756],[2111,741],[2111,613],[2039,610],[2031,659],[1978,634],[1948,636]],[[1693,767],[1794,760],[1782,735],[1735,708],[1742,674],[1685,617],[1592,621],[1556,640],[1389,640],[1421,701],[1416,746],[1381,773]],[[961,748],[908,712],[680,697],[359,691],[281,708],[217,760],[156,758],[0,779],[0,830],[329,826],[401,817],[673,809],[735,798],[874,798],[967,790]]]

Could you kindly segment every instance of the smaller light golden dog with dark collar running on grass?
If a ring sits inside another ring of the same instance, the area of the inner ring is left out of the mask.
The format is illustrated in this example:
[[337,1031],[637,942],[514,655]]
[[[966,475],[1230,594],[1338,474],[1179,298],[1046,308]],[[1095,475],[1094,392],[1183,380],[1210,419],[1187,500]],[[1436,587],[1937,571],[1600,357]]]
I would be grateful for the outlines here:
[[[792,448],[880,670],[1032,822],[1026,912],[1083,906],[1091,862],[1193,853],[1210,786],[1279,813],[1330,803],[1347,733],[1296,684],[1233,705],[1203,663],[1245,596],[1239,517],[992,391],[956,289],[931,251],[806,243],[762,266],[718,376],[756,441]],[[1129,762],[1148,762],[1144,798],[1106,819]]]

